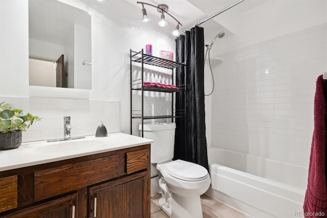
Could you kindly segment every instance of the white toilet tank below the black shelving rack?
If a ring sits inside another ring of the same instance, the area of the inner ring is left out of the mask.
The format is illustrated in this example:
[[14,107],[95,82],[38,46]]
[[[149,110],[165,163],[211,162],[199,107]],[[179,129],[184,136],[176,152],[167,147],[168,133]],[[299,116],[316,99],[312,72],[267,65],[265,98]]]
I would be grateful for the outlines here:
[[[175,123],[145,123],[144,138],[152,139],[151,163],[162,163],[174,157]],[[142,130],[142,124],[139,125]]]

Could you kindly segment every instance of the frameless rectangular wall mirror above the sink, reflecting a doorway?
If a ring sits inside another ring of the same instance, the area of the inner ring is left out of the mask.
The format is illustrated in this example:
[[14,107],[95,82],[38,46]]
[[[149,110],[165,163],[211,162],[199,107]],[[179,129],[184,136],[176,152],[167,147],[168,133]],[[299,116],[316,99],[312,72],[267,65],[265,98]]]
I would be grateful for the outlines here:
[[29,84],[90,90],[91,64],[91,15],[56,0],[29,0]]

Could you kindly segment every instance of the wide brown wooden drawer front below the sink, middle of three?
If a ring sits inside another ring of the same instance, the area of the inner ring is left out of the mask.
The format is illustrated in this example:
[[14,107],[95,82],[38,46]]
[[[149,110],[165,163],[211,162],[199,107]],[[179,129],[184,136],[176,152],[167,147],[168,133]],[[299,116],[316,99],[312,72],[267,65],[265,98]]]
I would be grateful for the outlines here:
[[34,172],[34,200],[103,182],[119,176],[119,155]]

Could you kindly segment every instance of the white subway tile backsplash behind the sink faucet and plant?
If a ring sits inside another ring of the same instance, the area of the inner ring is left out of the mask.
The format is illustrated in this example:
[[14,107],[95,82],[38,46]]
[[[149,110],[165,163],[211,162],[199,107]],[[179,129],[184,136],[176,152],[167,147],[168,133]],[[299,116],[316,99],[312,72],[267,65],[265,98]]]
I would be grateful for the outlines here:
[[95,135],[101,121],[108,133],[120,132],[119,101],[0,96],[3,101],[42,118],[23,132],[23,142],[63,138],[64,116],[71,116],[72,137]]

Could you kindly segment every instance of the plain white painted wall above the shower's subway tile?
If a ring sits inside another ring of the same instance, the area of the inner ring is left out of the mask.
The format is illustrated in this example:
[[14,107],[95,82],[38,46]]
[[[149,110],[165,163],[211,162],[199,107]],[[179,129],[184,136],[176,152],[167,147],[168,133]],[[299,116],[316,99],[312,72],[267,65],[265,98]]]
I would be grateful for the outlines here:
[[[239,10],[247,1],[230,10]],[[217,40],[212,56],[325,23],[326,7],[325,0],[268,0],[246,12],[226,11],[215,19],[233,35]]]

